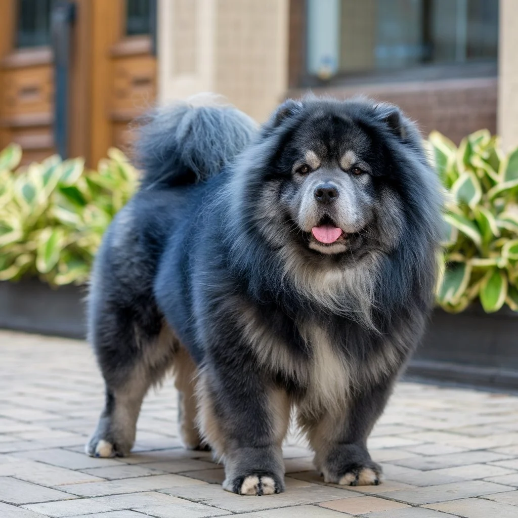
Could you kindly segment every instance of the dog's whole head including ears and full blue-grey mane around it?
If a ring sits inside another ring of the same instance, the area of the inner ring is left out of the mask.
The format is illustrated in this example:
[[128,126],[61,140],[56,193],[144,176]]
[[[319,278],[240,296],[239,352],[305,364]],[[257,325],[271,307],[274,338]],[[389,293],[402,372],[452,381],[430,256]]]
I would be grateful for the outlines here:
[[289,100],[249,151],[240,188],[249,220],[274,247],[358,261],[394,250],[407,225],[435,224],[436,181],[397,107]]

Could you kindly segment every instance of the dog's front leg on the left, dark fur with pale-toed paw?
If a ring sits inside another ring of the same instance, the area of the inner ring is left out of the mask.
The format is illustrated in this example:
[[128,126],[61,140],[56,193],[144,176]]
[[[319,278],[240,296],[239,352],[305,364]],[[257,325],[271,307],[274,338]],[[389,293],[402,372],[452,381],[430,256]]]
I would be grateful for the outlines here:
[[220,354],[200,372],[200,427],[225,466],[223,488],[240,495],[284,491],[282,440],[290,416],[285,392],[253,358]]

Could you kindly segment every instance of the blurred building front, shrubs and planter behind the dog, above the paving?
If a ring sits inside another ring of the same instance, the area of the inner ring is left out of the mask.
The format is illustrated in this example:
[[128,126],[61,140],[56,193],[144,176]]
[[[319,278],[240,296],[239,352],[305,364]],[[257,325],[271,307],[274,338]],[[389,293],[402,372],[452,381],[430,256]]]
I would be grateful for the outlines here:
[[446,193],[408,372],[518,389],[516,27],[518,0],[0,0],[0,328],[84,338],[148,108],[216,92],[263,122],[366,94],[419,123]]

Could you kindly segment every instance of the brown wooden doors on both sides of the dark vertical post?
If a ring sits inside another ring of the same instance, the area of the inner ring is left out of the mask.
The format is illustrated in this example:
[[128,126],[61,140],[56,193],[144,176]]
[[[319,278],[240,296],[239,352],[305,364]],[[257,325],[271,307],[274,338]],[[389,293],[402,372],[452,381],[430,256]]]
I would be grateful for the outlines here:
[[[128,125],[153,105],[155,0],[72,0],[68,156],[95,166],[111,146],[127,150]],[[55,152],[50,12],[56,0],[0,0],[0,148],[24,163]]]

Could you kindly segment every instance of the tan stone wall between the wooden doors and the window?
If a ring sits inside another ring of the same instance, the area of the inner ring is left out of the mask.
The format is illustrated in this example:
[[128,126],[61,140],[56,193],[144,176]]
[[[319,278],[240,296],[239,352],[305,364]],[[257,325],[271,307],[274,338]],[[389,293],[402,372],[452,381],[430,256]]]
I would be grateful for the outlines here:
[[159,100],[212,91],[264,121],[287,89],[288,0],[159,0]]

